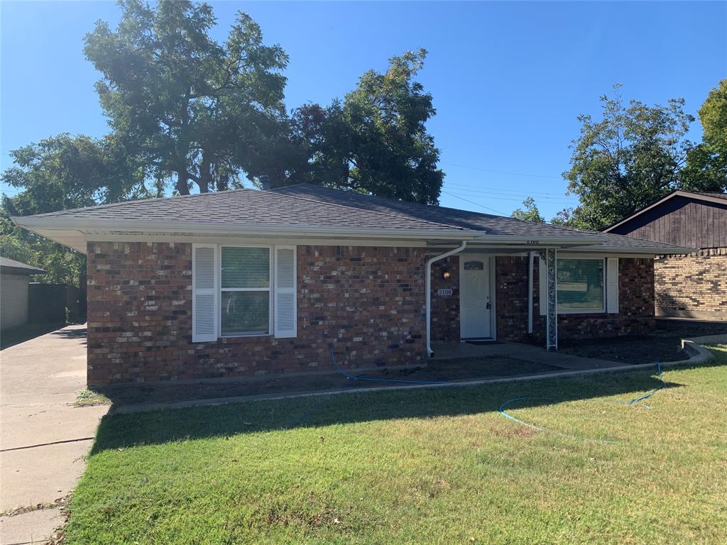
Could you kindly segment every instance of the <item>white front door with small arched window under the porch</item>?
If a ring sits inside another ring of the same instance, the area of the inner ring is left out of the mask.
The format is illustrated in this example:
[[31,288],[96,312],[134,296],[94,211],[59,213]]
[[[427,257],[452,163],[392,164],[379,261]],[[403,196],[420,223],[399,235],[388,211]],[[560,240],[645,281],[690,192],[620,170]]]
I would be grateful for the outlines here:
[[492,337],[490,258],[459,255],[459,328],[462,339]]

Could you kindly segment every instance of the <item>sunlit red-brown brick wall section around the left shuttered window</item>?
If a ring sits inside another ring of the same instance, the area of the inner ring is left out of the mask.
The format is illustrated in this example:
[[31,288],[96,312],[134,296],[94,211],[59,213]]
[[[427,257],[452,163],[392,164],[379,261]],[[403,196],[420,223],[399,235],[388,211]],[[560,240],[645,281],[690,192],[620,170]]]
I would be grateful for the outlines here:
[[425,357],[424,249],[298,246],[298,334],[193,343],[192,246],[89,243],[88,382],[330,369]]

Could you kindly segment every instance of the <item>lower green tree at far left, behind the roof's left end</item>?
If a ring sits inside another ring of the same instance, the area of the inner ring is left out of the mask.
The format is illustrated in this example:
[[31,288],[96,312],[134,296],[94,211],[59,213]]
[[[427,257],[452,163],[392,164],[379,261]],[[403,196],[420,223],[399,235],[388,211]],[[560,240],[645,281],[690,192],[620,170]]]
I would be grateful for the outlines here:
[[0,210],[0,252],[48,271],[46,282],[77,284],[84,270],[81,254],[16,227],[10,216],[156,196],[142,166],[113,137],[59,134],[11,152],[13,166],[0,179],[20,190],[3,195]]

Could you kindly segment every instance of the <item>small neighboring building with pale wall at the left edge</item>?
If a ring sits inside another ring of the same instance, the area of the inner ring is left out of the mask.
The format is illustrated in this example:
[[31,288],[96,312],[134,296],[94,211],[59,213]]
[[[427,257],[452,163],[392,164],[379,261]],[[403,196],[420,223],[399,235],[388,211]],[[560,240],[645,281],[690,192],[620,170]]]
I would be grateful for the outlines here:
[[28,323],[28,283],[46,271],[0,257],[0,329]]

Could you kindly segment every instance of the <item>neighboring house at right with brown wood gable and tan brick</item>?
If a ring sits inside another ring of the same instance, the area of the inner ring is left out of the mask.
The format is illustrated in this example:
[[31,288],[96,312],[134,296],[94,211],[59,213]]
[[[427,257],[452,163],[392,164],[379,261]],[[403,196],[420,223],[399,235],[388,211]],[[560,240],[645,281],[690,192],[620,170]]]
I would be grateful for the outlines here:
[[673,191],[605,232],[698,249],[656,258],[656,315],[727,320],[727,194]]

